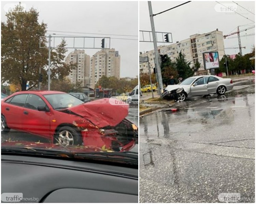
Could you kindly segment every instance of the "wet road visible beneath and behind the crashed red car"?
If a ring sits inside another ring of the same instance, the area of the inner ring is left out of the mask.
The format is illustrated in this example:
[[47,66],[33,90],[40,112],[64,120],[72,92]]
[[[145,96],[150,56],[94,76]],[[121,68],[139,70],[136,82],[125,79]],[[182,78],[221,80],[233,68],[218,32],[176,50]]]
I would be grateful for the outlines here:
[[[138,126],[138,107],[129,108],[129,114],[126,118]],[[1,141],[5,141],[5,140],[51,142],[50,140],[40,137],[38,135],[32,135],[29,133],[24,133],[16,130],[11,130],[8,134],[1,135]],[[137,151],[138,151],[138,147],[137,147]]]

